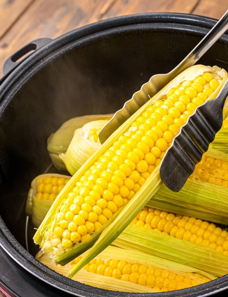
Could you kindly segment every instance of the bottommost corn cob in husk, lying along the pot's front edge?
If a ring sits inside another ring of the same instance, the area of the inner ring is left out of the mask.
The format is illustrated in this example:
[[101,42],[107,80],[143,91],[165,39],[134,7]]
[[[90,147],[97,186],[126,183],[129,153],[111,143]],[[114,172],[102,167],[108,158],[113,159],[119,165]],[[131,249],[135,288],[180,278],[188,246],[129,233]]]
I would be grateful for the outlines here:
[[[64,267],[36,256],[58,273],[78,263],[80,256]],[[215,277],[186,265],[181,265],[140,252],[109,246],[72,279],[93,287],[121,292],[168,292],[200,285]]]

